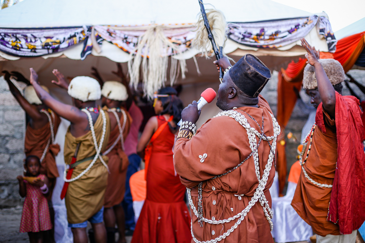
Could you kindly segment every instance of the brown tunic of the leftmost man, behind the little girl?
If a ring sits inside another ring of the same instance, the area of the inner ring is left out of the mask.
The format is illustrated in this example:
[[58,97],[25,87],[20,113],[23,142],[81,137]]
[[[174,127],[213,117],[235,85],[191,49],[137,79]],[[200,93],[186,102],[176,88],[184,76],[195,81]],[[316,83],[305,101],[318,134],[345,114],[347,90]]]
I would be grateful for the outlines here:
[[[54,122],[54,136],[56,136],[58,126],[61,122],[59,116],[54,113],[55,122]],[[24,142],[24,152],[26,156],[35,155],[39,159],[42,157],[42,154],[47,146],[48,140],[51,138],[51,129],[50,124],[47,122],[42,128],[33,129],[30,124],[27,125],[27,130],[25,133],[25,142]],[[50,144],[48,152],[44,160],[41,163],[42,169],[46,171],[46,176],[50,179],[58,177],[58,169],[55,161],[55,156],[59,152],[58,144]]]

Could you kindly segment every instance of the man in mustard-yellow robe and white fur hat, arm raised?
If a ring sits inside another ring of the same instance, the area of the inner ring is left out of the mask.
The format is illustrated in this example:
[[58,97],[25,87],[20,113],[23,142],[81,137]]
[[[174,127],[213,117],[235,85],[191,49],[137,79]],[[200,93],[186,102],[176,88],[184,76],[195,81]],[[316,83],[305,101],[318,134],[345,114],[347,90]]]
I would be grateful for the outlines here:
[[[57,74],[56,74],[57,76]],[[63,75],[62,75],[63,77]],[[90,77],[76,77],[70,85],[59,75],[55,84],[68,89],[74,106],[66,105],[52,98],[38,85],[38,75],[31,68],[30,82],[38,97],[59,116],[68,119],[71,125],[65,138],[65,164],[73,169],[66,177],[66,209],[69,227],[74,243],[87,243],[87,220],[91,222],[95,242],[106,242],[103,225],[104,194],[108,180],[108,157],[102,156],[110,136],[108,113],[99,110],[95,101],[101,98],[99,83]],[[71,165],[73,157],[76,162]],[[64,188],[65,188],[64,185]]]

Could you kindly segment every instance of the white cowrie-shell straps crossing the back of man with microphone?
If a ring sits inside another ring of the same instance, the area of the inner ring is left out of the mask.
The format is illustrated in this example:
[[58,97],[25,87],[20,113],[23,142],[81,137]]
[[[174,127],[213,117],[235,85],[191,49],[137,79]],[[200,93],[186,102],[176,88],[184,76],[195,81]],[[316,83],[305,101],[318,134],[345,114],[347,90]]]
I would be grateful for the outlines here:
[[[209,223],[209,224],[223,224],[223,223],[228,223],[232,220],[235,220],[238,218],[237,222],[235,222],[235,224],[227,231],[225,232],[223,235],[220,235],[219,237],[212,239],[212,240],[207,240],[207,241],[199,241],[198,239],[195,238],[194,234],[193,234],[193,226],[192,226],[192,222],[191,222],[191,235],[193,237],[193,240],[196,243],[216,243],[222,239],[225,239],[228,235],[230,235],[231,232],[233,232],[239,224],[241,224],[242,220],[245,218],[245,216],[247,215],[247,213],[250,211],[250,209],[253,207],[253,205],[259,201],[261,203],[261,206],[263,208],[264,214],[266,216],[266,219],[268,220],[269,224],[270,224],[270,230],[273,230],[273,223],[272,223],[272,217],[273,217],[273,212],[271,211],[270,207],[269,207],[269,202],[268,200],[266,200],[266,197],[264,195],[264,189],[266,186],[266,183],[268,181],[268,177],[269,177],[269,173],[272,167],[272,162],[274,160],[274,156],[275,156],[275,149],[276,149],[276,139],[277,136],[280,133],[280,126],[278,125],[276,119],[274,118],[274,116],[272,114],[272,121],[273,121],[273,127],[274,127],[274,135],[271,137],[267,137],[265,136],[265,134],[261,134],[258,131],[256,131],[254,128],[251,128],[249,122],[247,121],[246,117],[244,115],[242,115],[241,113],[239,113],[238,111],[235,110],[228,110],[228,111],[222,111],[220,113],[218,113],[215,117],[221,116],[221,115],[226,115],[229,117],[234,118],[237,122],[239,122],[239,124],[241,124],[247,132],[248,138],[249,138],[249,143],[250,143],[250,148],[251,151],[253,152],[253,159],[254,159],[254,164],[255,164],[255,172],[256,172],[256,176],[259,182],[258,187],[256,188],[256,191],[254,192],[253,197],[251,198],[251,201],[249,202],[249,204],[247,205],[247,207],[245,209],[242,210],[242,212],[238,213],[237,215],[234,215],[233,217],[229,217],[228,219],[223,219],[223,220],[211,220],[211,219],[205,219],[204,217],[200,217],[200,219],[202,221],[204,221],[205,223]],[[262,132],[263,133],[263,132]],[[269,153],[269,158],[268,158],[268,162],[265,165],[265,170],[264,173],[262,175],[262,179],[260,179],[260,166],[259,166],[259,161],[258,161],[258,152],[257,152],[257,138],[260,138],[260,140],[266,140],[266,141],[272,141],[271,144],[271,149],[270,149],[270,153]],[[187,189],[188,191],[188,200],[189,200],[189,204],[194,212],[194,214],[199,218],[199,213],[196,210],[195,205],[193,204],[193,200],[191,198],[191,189]],[[240,195],[241,196],[241,195]]]

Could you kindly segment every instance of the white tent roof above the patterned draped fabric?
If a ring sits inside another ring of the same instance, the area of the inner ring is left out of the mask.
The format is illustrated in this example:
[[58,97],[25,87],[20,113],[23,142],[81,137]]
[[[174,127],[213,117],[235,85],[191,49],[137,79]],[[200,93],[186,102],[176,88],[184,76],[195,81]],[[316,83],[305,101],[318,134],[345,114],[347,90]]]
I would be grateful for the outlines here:
[[[312,13],[270,0],[203,0],[205,8],[222,11],[228,22],[311,16]],[[37,7],[35,7],[37,6]],[[196,23],[198,0],[24,0],[0,11],[0,27],[34,28],[83,25],[187,24]],[[141,14],[143,13],[143,14]],[[65,17],[69,16],[69,17]]]

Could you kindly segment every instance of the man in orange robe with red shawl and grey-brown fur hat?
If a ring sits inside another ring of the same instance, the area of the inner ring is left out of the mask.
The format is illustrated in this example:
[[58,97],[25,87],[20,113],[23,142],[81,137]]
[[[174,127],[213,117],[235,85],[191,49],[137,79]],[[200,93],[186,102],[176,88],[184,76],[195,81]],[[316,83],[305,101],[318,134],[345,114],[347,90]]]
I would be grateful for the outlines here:
[[317,108],[306,138],[302,171],[292,200],[319,243],[354,243],[365,220],[364,128],[359,101],[342,96],[345,73],[334,59],[320,59],[305,39],[308,54],[303,88]]

